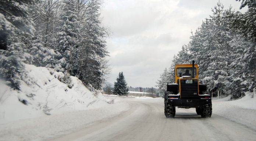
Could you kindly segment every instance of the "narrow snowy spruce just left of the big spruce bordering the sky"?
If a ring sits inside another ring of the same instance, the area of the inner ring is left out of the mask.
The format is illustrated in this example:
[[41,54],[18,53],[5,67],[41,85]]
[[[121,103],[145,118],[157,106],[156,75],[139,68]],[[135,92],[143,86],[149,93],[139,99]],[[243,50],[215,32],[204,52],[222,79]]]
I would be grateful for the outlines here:
[[62,11],[60,15],[60,25],[57,33],[57,49],[63,56],[57,61],[54,69],[56,71],[70,71],[71,54],[76,46],[77,40],[77,8],[76,0],[63,0]]

